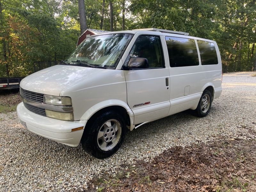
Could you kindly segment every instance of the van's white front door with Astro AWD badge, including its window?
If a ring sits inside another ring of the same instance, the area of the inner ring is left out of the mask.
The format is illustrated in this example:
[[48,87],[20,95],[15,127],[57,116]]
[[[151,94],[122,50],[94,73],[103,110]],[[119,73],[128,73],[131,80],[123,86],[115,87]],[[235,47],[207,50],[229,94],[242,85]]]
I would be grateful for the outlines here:
[[131,57],[146,58],[149,63],[147,69],[124,71],[127,103],[134,113],[134,124],[167,116],[170,109],[170,76],[169,68],[165,67],[161,37],[140,35],[124,64]]

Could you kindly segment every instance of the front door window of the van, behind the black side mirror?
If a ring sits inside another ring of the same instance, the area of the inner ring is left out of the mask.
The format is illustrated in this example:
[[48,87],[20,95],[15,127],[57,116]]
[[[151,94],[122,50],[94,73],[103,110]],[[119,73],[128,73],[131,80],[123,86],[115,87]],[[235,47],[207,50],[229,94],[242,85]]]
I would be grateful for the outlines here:
[[148,60],[149,68],[164,68],[163,51],[159,36],[139,36],[129,58],[142,57]]

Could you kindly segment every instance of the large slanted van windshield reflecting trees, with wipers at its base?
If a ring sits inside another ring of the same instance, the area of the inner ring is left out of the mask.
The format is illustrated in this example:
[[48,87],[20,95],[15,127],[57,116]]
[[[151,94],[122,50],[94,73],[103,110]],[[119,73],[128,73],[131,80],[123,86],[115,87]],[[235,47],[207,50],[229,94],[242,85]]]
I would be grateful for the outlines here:
[[[132,38],[131,34],[110,34],[87,37],[65,62],[85,62],[95,67],[116,68],[121,54]],[[87,67],[89,67],[87,65]],[[83,65],[86,66],[86,65]]]

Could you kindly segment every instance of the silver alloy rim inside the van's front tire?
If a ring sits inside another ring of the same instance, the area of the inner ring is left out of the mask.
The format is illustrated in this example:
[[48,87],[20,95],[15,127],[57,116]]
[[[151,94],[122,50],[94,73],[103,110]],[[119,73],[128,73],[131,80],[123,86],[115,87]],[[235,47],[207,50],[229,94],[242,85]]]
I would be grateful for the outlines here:
[[121,124],[116,119],[106,121],[100,128],[97,143],[100,149],[108,151],[116,146],[121,138]]

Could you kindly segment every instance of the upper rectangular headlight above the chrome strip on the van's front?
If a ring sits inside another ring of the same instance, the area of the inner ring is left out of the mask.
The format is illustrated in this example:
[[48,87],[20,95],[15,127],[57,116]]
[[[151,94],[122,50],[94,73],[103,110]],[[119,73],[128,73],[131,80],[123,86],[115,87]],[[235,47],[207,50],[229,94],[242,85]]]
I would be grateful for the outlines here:
[[70,97],[60,97],[52,95],[44,95],[44,103],[58,106],[72,106]]

